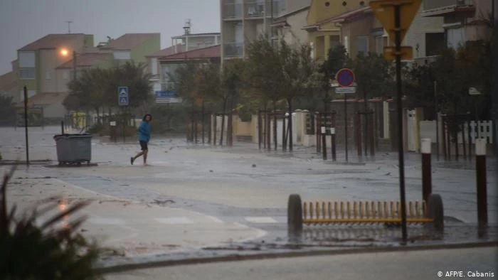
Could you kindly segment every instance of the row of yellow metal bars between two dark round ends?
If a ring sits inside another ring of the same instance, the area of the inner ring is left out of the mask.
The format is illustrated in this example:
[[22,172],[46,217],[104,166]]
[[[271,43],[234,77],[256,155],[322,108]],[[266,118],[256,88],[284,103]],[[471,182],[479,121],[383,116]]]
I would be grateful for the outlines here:
[[[394,201],[334,201],[302,204],[303,224],[334,224],[334,223],[401,223],[401,203]],[[409,201],[406,203],[406,222],[424,223],[433,222],[427,216],[425,201]]]

